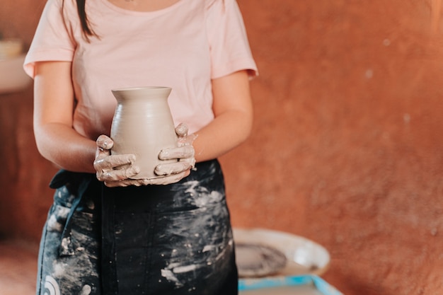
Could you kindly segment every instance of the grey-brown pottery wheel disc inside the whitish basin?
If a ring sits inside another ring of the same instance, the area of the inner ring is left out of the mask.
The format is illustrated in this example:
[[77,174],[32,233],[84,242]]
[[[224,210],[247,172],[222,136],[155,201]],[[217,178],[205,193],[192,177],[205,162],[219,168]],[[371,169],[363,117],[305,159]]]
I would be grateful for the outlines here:
[[236,243],[236,263],[239,277],[263,277],[282,270],[287,258],[267,245]]

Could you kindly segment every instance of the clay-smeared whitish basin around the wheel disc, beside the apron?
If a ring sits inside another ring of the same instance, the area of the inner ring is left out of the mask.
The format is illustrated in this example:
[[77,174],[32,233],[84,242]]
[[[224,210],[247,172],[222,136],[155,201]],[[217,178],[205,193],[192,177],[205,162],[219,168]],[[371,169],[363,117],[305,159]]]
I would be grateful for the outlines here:
[[[269,277],[286,277],[302,274],[321,275],[328,269],[330,255],[326,248],[307,238],[282,231],[267,229],[235,229],[235,243],[250,243],[275,248],[287,258],[284,268]],[[238,272],[241,276],[241,265]]]

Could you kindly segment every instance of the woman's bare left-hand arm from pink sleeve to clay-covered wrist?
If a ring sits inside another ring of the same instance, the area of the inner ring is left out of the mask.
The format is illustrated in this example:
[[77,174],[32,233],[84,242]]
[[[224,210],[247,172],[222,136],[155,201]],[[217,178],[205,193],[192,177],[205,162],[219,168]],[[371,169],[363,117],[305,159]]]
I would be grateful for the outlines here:
[[96,142],[72,128],[71,62],[38,62],[34,81],[34,134],[38,151],[61,168],[95,173]]

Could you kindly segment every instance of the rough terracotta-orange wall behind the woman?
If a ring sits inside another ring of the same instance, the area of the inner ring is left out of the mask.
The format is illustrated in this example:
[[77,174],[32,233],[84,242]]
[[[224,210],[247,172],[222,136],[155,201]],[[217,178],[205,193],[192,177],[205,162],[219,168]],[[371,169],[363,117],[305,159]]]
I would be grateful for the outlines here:
[[[45,0],[4,0],[30,42]],[[344,294],[443,293],[439,0],[238,0],[260,76],[255,127],[222,158],[234,226],[311,238]],[[0,232],[36,242],[55,168],[32,91],[0,96]]]

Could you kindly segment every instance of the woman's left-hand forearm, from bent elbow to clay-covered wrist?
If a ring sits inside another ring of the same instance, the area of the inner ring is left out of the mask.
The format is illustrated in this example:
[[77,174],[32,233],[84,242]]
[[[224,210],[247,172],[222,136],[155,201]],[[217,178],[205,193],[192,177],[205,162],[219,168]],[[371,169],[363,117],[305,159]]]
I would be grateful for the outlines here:
[[40,154],[60,168],[95,173],[93,161],[96,141],[81,136],[74,129],[59,123],[35,127],[35,141]]

